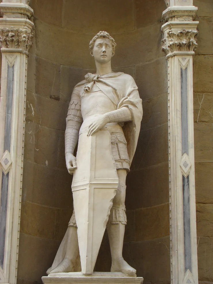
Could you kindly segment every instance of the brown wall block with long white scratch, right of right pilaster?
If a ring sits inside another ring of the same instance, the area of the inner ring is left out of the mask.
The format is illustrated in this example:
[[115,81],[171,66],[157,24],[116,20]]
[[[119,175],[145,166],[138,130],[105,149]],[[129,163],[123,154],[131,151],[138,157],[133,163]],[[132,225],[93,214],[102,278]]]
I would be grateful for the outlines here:
[[194,122],[213,123],[212,94],[194,93]]

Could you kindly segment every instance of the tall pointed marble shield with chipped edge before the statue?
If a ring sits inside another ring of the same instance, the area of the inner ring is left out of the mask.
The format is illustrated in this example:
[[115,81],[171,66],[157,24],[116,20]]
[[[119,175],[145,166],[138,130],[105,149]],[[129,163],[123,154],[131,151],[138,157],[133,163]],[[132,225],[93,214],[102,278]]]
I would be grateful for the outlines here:
[[81,271],[92,274],[118,186],[109,131],[81,134],[76,162],[72,191]]

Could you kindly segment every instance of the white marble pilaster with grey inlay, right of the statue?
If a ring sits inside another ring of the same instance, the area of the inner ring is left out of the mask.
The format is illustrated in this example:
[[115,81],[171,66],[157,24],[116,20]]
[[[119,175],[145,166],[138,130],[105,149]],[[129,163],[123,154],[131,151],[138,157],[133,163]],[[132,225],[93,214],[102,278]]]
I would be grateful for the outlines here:
[[197,7],[166,1],[162,26],[168,60],[171,283],[198,283],[193,128],[193,55]]

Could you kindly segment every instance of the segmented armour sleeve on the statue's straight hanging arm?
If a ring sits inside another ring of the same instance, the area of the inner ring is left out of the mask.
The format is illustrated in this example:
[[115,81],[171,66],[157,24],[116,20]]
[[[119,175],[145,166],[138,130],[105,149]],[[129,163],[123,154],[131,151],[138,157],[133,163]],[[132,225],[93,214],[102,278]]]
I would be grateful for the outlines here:
[[66,153],[73,154],[82,122],[80,97],[73,93],[66,117],[65,155]]

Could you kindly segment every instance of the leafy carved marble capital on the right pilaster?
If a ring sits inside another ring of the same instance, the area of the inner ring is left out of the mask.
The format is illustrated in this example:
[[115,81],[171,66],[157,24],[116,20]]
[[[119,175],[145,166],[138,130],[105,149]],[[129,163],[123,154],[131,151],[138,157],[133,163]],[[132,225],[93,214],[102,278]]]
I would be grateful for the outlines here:
[[197,35],[198,31],[185,30],[175,33],[170,30],[167,33],[166,39],[164,39],[164,44],[162,50],[166,54],[173,52],[194,52],[197,48]]

